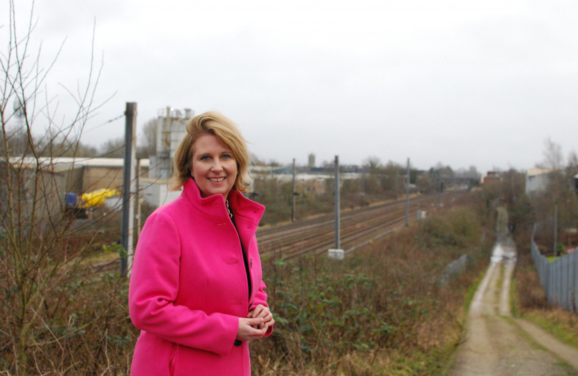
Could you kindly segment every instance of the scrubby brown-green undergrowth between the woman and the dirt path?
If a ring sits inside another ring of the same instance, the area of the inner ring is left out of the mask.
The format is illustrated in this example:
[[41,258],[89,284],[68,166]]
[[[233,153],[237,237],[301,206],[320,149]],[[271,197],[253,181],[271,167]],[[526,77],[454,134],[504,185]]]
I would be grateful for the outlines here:
[[[267,260],[274,334],[251,343],[256,375],[443,375],[462,334],[467,288],[485,266],[473,212],[452,210],[339,262]],[[471,264],[446,288],[442,269]]]

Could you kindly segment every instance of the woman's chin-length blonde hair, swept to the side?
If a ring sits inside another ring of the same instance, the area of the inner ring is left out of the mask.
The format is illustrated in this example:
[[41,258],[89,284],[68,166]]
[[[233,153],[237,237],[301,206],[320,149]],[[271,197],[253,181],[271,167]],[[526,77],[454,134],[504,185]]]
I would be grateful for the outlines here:
[[247,149],[247,141],[241,134],[239,127],[233,120],[221,113],[208,111],[201,113],[187,120],[187,135],[185,136],[175,152],[173,159],[173,176],[169,180],[169,189],[176,191],[180,189],[189,178],[193,165],[194,143],[203,134],[213,134],[219,141],[233,152],[233,157],[237,161],[237,178],[233,189],[246,191],[251,182],[249,175],[249,159],[251,155]]

